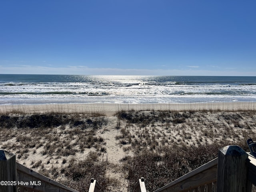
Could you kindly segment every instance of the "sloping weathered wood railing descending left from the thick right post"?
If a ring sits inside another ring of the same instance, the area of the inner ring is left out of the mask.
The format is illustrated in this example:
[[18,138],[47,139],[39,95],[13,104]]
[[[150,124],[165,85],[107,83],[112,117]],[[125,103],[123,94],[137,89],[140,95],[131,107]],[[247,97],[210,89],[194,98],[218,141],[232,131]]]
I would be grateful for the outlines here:
[[184,191],[215,182],[217,180],[217,162],[216,158],[154,192]]

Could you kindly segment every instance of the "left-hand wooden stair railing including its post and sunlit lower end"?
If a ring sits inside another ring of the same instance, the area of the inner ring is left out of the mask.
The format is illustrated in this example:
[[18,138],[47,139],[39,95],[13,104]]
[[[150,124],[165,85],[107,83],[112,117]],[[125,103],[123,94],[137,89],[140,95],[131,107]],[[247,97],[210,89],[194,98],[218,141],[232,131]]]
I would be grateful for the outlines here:
[[[0,150],[0,192],[78,192],[16,162],[15,154]],[[3,183],[2,183],[3,182]],[[91,180],[89,192],[99,192]]]

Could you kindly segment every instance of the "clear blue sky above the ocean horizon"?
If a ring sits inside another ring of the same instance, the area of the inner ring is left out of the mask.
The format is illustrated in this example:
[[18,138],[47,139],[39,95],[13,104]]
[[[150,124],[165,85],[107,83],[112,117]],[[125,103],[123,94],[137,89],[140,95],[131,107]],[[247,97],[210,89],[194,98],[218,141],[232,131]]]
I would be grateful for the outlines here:
[[256,76],[255,10],[255,0],[2,0],[0,74]]

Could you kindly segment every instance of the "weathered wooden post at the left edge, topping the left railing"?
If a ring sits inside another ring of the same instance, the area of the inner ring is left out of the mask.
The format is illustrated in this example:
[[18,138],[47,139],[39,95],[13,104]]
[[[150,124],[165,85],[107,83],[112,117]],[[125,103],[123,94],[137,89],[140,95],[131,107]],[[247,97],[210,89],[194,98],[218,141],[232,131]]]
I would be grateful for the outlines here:
[[17,192],[15,154],[0,150],[0,191]]

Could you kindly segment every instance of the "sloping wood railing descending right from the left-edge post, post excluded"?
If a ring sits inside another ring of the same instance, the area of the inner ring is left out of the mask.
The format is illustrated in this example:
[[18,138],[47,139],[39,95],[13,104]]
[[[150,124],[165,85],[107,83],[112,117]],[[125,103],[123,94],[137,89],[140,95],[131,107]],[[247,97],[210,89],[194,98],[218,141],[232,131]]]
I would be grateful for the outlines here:
[[[38,190],[39,192],[78,192],[68,186],[60,184],[50,178],[34,172],[30,168],[23,166],[16,162],[17,167],[17,180],[29,182],[27,189]],[[32,183],[31,183],[32,182]]]

